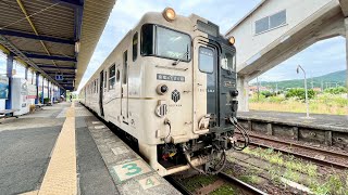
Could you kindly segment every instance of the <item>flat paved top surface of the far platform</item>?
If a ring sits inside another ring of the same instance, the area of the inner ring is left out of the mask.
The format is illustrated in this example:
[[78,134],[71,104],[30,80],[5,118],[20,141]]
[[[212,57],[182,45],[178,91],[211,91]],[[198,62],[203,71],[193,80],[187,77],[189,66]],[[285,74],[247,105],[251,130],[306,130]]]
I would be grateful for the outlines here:
[[344,130],[348,132],[348,116],[344,115],[318,115],[311,114],[312,119],[306,119],[303,113],[282,113],[282,112],[263,112],[250,110],[238,112],[240,119],[258,119],[264,121],[288,122],[299,126],[312,126],[327,130]]

